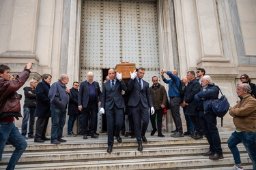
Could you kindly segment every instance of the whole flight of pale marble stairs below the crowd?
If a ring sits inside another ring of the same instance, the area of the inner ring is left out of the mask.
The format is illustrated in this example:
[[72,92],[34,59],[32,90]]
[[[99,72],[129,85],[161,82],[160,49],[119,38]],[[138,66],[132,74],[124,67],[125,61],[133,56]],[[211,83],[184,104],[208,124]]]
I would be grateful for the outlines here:
[[[192,139],[150,136],[143,143],[143,152],[137,151],[137,141],[122,137],[115,142],[113,152],[106,152],[106,134],[98,139],[83,139],[83,136],[64,137],[66,143],[53,145],[50,141],[34,143],[28,139],[28,147],[16,165],[16,169],[232,169],[233,156],[227,147],[231,131],[220,131],[224,159],[210,160],[202,156],[208,152],[206,138]],[[238,146],[244,169],[253,169],[251,160],[242,144]],[[0,169],[5,169],[14,148],[5,146]]]

